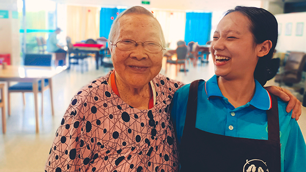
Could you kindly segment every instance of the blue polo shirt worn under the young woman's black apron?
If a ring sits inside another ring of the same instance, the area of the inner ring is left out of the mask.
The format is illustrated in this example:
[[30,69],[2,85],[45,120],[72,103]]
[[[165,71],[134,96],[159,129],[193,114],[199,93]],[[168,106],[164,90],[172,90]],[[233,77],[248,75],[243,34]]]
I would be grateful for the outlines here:
[[[217,76],[198,86],[195,127],[214,134],[251,139],[268,139],[267,113],[271,97],[258,81],[252,100],[235,108],[218,87]],[[171,117],[176,127],[177,141],[181,142],[190,84],[177,90],[173,97]],[[278,99],[279,135],[281,139],[282,171],[306,171],[306,145],[301,130],[287,103]]]

